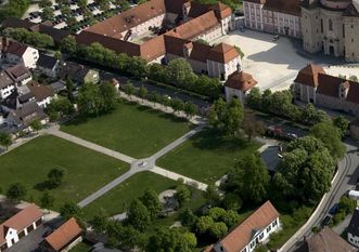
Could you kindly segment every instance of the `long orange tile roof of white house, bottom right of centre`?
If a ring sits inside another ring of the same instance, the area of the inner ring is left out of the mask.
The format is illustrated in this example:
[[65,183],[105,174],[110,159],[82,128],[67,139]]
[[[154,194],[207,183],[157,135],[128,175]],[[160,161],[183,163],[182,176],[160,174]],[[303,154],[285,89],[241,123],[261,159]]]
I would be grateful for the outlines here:
[[279,217],[278,211],[270,201],[267,201],[220,240],[220,244],[227,252],[242,251],[251,242],[253,230],[267,227],[277,217]]

